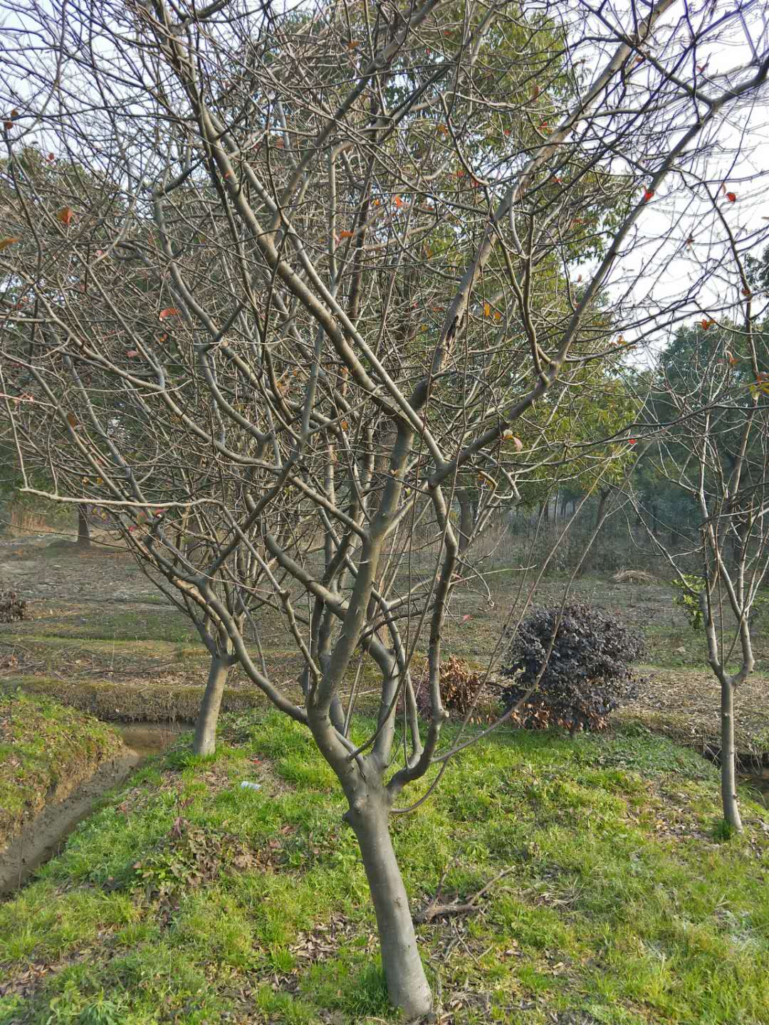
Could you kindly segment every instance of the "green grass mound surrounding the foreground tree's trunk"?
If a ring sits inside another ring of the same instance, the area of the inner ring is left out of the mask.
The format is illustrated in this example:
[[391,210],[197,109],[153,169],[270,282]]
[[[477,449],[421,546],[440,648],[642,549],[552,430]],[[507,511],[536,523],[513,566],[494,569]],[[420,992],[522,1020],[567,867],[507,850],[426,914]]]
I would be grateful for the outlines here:
[[[0,1023],[396,1022],[307,732],[249,712],[214,758],[186,743],[0,907]],[[446,898],[510,872],[478,916],[419,927],[446,1020],[765,1025],[769,812],[743,812],[744,834],[717,837],[715,770],[643,730],[472,748],[393,822],[414,906],[444,872]]]

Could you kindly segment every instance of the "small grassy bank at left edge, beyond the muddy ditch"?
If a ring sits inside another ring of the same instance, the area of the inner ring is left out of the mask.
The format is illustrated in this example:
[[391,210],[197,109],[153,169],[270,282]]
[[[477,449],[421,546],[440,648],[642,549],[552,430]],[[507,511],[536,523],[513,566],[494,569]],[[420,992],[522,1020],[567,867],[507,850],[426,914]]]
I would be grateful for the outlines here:
[[122,747],[114,730],[44,697],[0,694],[0,849]]

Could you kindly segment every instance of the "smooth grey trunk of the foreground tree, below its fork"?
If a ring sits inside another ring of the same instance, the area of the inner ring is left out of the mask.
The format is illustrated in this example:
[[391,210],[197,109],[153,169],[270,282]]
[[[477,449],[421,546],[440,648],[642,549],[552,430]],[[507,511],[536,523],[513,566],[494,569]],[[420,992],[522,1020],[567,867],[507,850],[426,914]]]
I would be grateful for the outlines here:
[[369,790],[355,799],[346,819],[363,856],[390,1000],[406,1021],[412,1021],[430,1014],[433,994],[416,948],[406,888],[390,837],[385,795]]

